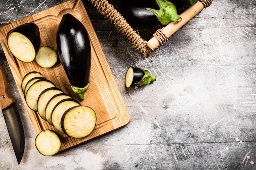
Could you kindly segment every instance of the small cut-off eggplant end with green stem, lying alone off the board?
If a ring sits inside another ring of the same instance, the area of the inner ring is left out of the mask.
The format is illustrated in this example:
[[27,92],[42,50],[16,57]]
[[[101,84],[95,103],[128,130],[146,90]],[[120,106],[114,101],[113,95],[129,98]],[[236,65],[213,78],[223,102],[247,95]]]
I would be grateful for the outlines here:
[[151,75],[148,70],[144,70],[138,67],[129,67],[126,71],[125,86],[127,88],[131,86],[143,86],[156,80],[155,75]]

